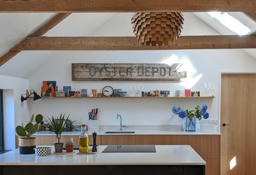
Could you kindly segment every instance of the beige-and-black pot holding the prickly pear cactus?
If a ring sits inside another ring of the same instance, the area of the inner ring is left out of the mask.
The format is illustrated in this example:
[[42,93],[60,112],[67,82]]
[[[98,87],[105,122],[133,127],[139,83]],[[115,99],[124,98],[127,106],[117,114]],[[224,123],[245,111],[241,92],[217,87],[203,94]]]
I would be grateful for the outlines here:
[[34,150],[35,145],[36,145],[36,138],[35,137],[19,138],[20,154],[35,154],[35,150]]

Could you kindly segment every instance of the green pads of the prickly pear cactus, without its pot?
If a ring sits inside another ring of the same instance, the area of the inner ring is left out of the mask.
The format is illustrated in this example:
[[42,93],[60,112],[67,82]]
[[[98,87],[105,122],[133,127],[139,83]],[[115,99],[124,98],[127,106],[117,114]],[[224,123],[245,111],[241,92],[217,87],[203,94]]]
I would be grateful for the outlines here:
[[38,124],[43,121],[43,116],[38,114],[35,116],[35,124],[32,123],[34,120],[34,113],[31,114],[29,122],[25,125],[25,127],[18,125],[15,128],[17,135],[21,137],[31,138],[31,135],[34,134],[38,130]]

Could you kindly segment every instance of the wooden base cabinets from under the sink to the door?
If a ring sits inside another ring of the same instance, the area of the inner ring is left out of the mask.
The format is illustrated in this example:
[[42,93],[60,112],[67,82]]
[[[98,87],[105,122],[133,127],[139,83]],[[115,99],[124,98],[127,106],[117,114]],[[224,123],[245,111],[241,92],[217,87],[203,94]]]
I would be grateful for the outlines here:
[[219,135],[102,135],[102,145],[190,145],[207,162],[206,175],[220,174]]

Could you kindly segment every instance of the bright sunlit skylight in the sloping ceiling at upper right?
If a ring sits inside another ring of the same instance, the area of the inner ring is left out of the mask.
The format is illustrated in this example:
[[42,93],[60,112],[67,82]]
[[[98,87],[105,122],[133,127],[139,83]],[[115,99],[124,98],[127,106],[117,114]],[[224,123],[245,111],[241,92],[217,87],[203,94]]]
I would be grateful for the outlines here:
[[211,17],[219,20],[223,25],[239,35],[246,35],[251,31],[250,28],[246,27],[240,21],[236,20],[236,18],[230,16],[226,12],[212,11],[208,12],[208,14],[211,15]]

